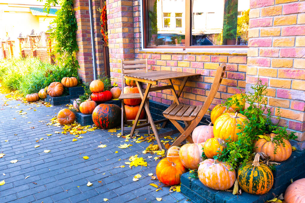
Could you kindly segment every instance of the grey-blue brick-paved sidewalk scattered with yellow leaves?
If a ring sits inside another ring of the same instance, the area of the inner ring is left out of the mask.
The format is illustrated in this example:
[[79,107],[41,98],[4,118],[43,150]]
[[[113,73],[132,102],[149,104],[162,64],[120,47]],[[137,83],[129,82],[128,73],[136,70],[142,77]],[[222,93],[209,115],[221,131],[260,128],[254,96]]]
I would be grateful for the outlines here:
[[[147,142],[133,142],[131,150],[120,149],[117,146],[126,143],[124,139],[100,129],[82,134],[84,138],[72,142],[73,135],[55,134],[62,129],[38,122],[48,122],[63,106],[36,107],[16,100],[9,100],[9,105],[2,106],[7,100],[4,96],[0,94],[0,153],[5,154],[0,158],[0,181],[5,180],[0,186],[1,203],[103,202],[103,198],[109,202],[158,202],[156,197],[162,197],[166,203],[189,202],[180,192],[170,194],[169,187],[155,191],[156,188],[149,185],[160,182],[150,180],[148,176],[148,173],[155,175],[159,161],[148,158],[149,153],[142,154],[149,145]],[[33,109],[26,110],[29,107]],[[20,115],[21,109],[27,114]],[[144,133],[147,131],[140,135]],[[46,134],[52,135],[48,137]],[[36,142],[36,138],[44,139]],[[98,148],[100,143],[107,147]],[[40,147],[34,148],[35,145]],[[44,153],[45,149],[51,152]],[[147,167],[133,166],[130,169],[124,164],[128,161],[124,159],[136,154],[146,159]],[[89,159],[84,160],[83,156]],[[19,161],[10,163],[15,159]],[[113,168],[121,165],[126,167]],[[138,173],[142,177],[135,182],[132,179]],[[27,176],[30,177],[25,179]],[[88,181],[93,187],[86,185]]]

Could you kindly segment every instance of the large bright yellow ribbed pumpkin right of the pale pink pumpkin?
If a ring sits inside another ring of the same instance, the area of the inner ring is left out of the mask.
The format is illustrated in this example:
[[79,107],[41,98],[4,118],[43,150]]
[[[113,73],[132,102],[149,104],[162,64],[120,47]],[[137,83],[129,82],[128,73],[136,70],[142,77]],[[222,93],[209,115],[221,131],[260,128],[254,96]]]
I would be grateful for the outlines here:
[[[241,132],[245,126],[244,121],[248,118],[242,114],[225,113],[218,117],[215,121],[213,132],[215,138],[221,138],[225,142],[229,142],[229,138],[232,142],[237,141],[237,133]],[[241,124],[241,129],[238,128],[238,124]]]

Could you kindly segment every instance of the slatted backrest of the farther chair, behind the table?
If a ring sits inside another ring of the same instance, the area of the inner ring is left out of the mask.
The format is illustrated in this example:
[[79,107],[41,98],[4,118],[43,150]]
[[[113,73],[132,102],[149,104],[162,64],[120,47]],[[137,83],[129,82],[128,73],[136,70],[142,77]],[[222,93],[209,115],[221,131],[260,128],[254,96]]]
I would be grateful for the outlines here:
[[121,61],[122,93],[124,93],[124,73],[148,72],[147,59],[134,61]]

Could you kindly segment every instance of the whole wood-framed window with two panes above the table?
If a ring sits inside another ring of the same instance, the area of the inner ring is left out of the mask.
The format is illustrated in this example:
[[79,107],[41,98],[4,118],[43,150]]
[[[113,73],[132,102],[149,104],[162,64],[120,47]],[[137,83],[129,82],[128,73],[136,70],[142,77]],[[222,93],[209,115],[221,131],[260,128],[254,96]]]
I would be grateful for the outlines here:
[[143,0],[144,47],[246,47],[250,0]]

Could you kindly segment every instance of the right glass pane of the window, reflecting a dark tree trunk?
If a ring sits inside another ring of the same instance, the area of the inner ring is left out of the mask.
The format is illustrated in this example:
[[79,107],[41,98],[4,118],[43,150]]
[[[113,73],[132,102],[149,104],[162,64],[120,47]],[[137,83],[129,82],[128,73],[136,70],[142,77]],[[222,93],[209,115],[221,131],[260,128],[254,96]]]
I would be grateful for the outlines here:
[[247,45],[249,7],[249,0],[192,0],[192,45]]

